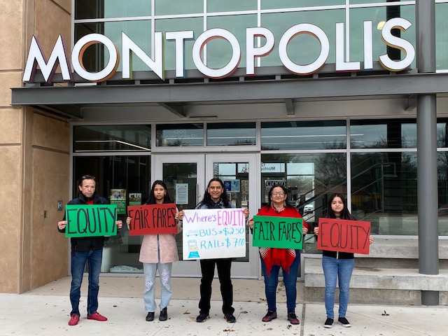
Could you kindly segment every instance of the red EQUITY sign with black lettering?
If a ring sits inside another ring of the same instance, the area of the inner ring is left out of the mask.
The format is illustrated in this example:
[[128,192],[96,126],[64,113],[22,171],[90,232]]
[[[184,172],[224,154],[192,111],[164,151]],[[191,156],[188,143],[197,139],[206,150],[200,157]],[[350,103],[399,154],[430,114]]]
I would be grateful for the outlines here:
[[369,237],[370,222],[319,218],[319,250],[369,254]]

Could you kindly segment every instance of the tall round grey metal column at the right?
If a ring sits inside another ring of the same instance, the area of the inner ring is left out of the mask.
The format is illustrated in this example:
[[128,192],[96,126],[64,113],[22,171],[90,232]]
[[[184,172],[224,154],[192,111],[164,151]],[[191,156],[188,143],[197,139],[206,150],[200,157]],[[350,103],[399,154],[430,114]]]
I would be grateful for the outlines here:
[[[416,57],[419,73],[435,72],[435,0],[416,1]],[[419,273],[439,274],[435,94],[417,96],[417,179]],[[439,304],[439,292],[422,290],[421,304]]]

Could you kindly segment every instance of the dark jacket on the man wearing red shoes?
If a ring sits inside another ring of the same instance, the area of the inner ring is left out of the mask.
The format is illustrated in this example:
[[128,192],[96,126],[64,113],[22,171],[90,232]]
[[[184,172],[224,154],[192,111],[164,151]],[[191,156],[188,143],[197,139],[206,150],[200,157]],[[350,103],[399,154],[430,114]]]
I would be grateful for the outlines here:
[[[79,196],[71,200],[67,204],[87,204],[87,200],[82,193]],[[99,196],[97,193],[93,195],[93,204],[109,204],[109,201],[104,197]],[[65,214],[62,221],[65,221]],[[59,228],[57,229],[59,230]],[[59,232],[65,232],[64,230],[59,230]],[[71,255],[75,255],[75,251],[87,252],[90,250],[100,250],[104,246],[105,237],[71,237]]]

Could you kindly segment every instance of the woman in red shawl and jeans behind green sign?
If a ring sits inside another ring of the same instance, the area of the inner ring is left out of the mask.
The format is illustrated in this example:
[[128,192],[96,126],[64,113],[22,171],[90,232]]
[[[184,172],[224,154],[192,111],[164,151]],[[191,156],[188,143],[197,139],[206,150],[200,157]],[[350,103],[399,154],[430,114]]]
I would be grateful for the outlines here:
[[[269,190],[269,203],[258,211],[257,216],[278,216],[302,218],[299,212],[288,199],[288,190],[280,185],[274,185]],[[253,220],[248,223],[253,228]],[[303,231],[308,232],[307,223],[303,222]],[[297,272],[300,264],[300,250],[290,248],[266,248],[260,247],[260,259],[263,274],[265,276],[265,293],[267,300],[267,314],[262,318],[263,322],[272,321],[277,317],[276,312],[276,288],[279,283],[279,270],[283,271],[283,283],[286,289],[286,306],[288,308],[288,321],[291,324],[299,324],[295,315],[295,300],[297,298]]]

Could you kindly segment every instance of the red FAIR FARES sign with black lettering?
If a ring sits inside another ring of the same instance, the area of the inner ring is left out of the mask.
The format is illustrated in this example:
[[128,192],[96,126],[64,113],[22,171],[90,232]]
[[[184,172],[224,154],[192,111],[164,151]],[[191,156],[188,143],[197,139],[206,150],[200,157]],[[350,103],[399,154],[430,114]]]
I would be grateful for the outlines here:
[[176,234],[176,204],[145,204],[127,207],[130,236]]

